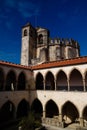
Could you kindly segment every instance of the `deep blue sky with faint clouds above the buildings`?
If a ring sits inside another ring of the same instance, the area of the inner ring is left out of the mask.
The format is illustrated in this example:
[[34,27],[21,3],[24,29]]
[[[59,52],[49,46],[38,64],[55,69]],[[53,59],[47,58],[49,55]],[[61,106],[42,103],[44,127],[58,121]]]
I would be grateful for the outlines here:
[[50,37],[73,38],[87,55],[87,0],[0,0],[0,60],[20,63],[21,28],[30,22]]

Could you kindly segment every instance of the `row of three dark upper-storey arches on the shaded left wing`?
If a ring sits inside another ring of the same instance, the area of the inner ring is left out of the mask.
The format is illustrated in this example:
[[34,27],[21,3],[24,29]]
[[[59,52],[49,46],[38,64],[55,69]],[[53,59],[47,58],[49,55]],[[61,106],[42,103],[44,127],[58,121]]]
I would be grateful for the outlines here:
[[24,72],[20,72],[17,75],[13,70],[10,70],[7,75],[4,74],[0,68],[0,91],[11,90],[25,90],[26,89],[26,75]]

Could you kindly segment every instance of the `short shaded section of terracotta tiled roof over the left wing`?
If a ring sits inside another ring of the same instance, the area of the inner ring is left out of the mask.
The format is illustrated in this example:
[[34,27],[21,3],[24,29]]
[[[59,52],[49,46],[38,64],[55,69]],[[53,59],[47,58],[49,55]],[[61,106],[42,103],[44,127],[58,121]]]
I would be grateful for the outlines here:
[[0,65],[31,70],[31,66],[24,66],[24,65],[20,65],[20,64],[14,64],[14,63],[11,63],[11,62],[6,62],[6,61],[0,61]]

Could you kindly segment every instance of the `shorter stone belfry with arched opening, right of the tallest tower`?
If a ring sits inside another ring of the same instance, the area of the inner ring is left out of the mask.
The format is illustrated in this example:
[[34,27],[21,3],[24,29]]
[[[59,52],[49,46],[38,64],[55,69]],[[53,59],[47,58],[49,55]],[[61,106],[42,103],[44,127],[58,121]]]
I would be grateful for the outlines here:
[[48,61],[49,30],[37,28],[37,58],[40,62]]

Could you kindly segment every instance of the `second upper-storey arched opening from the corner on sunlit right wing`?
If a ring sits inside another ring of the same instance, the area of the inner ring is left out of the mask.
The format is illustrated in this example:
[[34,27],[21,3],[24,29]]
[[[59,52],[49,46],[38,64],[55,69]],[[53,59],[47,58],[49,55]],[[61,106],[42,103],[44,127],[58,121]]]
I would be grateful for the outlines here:
[[45,82],[46,82],[45,83],[46,90],[54,90],[55,89],[54,76],[51,72],[47,73]]

